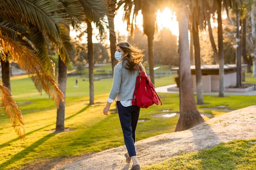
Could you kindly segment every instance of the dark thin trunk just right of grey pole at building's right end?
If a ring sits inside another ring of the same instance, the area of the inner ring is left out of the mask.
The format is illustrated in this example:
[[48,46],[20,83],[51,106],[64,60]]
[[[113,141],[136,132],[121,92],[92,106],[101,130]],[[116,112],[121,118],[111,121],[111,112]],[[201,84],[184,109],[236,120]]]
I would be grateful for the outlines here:
[[[243,17],[242,19],[242,44],[241,44],[241,62],[242,64],[245,64],[247,62],[246,59],[246,17]],[[245,68],[242,67],[242,82],[245,82]]]

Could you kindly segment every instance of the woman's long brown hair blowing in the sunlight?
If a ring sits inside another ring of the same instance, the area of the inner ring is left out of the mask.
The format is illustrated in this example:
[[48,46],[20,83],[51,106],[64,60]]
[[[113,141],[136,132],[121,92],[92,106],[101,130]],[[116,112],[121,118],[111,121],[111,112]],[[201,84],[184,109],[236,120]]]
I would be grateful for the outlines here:
[[[116,45],[119,46],[124,53],[127,55],[122,58],[121,61],[127,60],[128,62],[125,64],[125,68],[129,70],[129,74],[134,73],[135,70],[139,70],[139,63],[143,62],[145,50],[141,50],[133,45],[130,45],[128,42],[120,42]],[[124,62],[123,62],[124,63]],[[144,67],[142,66],[144,69]],[[145,69],[144,69],[145,70]]]

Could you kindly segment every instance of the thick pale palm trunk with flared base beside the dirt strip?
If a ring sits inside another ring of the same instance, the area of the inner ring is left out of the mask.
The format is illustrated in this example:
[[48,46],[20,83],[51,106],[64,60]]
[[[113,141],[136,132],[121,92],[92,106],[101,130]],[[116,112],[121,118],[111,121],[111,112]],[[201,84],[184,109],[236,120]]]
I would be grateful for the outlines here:
[[189,57],[188,18],[186,11],[179,14],[179,76],[180,76],[180,117],[175,131],[189,129],[204,122],[198,112],[192,88]]

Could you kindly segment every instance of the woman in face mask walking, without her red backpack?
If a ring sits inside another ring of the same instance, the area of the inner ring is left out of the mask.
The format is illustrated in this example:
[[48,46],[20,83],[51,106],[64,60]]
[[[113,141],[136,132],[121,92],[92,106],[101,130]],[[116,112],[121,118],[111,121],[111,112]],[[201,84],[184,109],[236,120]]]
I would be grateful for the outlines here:
[[134,145],[140,108],[137,105],[132,105],[131,101],[133,99],[139,69],[142,68],[145,71],[145,68],[141,64],[144,57],[142,54],[143,51],[131,46],[128,42],[121,42],[116,45],[115,58],[119,60],[119,63],[114,68],[113,85],[108,96],[107,105],[103,110],[103,113],[108,115],[110,105],[116,99],[118,116],[125,146],[128,151],[125,153],[126,162],[131,162],[131,159],[133,161],[131,170],[140,170]]

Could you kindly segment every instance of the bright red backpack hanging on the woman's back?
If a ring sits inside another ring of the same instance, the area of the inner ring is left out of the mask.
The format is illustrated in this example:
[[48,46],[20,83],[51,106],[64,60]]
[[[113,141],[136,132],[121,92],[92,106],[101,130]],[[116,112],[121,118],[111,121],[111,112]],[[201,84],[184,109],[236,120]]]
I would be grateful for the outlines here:
[[134,95],[131,104],[137,105],[140,108],[148,108],[153,104],[159,105],[158,101],[160,101],[161,105],[163,105],[160,97],[154,90],[153,83],[151,83],[148,76],[146,76],[145,72],[142,71],[140,68],[140,73],[137,76]]

